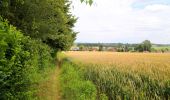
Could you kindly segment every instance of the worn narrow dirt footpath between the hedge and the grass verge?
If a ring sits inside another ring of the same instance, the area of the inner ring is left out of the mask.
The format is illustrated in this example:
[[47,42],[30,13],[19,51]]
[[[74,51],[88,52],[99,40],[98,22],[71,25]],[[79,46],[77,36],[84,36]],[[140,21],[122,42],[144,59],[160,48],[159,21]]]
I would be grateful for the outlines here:
[[61,100],[59,73],[60,69],[57,67],[49,76],[49,79],[40,84],[38,92],[39,100]]

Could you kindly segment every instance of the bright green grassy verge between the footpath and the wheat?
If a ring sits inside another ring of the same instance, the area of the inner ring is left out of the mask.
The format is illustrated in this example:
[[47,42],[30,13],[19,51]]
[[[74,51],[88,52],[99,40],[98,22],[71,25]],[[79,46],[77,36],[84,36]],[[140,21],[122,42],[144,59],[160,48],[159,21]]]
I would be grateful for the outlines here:
[[86,81],[76,65],[64,62],[61,71],[61,87],[64,100],[96,100],[96,88]]

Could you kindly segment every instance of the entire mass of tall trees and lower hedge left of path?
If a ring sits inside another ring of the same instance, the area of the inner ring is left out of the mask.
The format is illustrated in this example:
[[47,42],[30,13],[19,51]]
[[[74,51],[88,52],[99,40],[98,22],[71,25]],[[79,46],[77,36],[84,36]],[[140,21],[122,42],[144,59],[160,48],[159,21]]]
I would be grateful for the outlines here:
[[68,0],[0,1],[0,99],[35,98],[56,52],[75,40]]

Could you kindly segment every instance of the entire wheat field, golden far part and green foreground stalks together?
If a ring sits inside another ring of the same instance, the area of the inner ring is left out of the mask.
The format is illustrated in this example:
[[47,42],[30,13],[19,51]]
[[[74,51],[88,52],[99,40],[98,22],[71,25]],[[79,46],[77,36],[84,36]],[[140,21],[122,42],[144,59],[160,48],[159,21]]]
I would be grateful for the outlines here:
[[75,63],[84,66],[98,97],[109,100],[170,99],[170,54],[66,52]]

